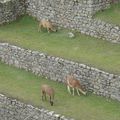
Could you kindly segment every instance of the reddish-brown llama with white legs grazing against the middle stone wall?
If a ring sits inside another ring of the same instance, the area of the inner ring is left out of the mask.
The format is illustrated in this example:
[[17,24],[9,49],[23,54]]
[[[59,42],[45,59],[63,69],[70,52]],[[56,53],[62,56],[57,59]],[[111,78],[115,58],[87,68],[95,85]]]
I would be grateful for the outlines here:
[[73,91],[73,96],[74,96],[74,92],[75,92],[75,89],[77,91],[77,94],[80,95],[79,92],[81,92],[83,95],[86,95],[86,92],[83,90],[81,84],[80,84],[80,81],[77,80],[73,74],[70,74],[70,75],[67,75],[66,76],[66,84],[67,84],[67,89],[68,89],[68,92],[71,94],[71,90],[70,88],[72,88],[72,91]]

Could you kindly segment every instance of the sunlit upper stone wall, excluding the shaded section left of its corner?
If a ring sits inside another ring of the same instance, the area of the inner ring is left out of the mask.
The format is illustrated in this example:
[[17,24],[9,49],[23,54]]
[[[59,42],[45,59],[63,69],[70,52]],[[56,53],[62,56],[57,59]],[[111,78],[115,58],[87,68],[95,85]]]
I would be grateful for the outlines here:
[[110,5],[110,0],[27,0],[27,13],[40,19],[50,19],[54,24],[81,33],[120,43],[120,26],[91,19],[93,14]]

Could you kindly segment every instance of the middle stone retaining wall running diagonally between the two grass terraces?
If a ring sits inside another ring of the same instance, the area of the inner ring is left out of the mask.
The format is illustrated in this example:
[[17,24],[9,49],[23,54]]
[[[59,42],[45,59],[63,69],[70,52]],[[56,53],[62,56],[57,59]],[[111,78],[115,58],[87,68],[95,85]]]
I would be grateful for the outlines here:
[[118,75],[7,43],[0,43],[0,60],[58,82],[64,82],[66,75],[74,73],[89,91],[120,101],[120,76]]

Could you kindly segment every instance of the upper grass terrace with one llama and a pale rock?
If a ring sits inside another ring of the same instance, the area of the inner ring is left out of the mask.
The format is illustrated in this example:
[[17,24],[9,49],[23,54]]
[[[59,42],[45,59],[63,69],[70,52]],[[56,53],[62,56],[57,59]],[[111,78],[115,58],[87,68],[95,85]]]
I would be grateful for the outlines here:
[[42,51],[49,55],[78,61],[104,71],[120,74],[120,45],[101,39],[75,33],[76,37],[68,38],[69,30],[38,33],[38,22],[24,16],[0,26],[0,42],[8,42],[31,50]]

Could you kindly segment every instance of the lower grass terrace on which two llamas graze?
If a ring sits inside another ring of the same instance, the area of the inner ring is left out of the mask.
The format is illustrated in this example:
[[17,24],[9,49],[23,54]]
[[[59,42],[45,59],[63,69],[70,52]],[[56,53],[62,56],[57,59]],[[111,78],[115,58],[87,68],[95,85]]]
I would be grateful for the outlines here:
[[[40,86],[46,83],[55,89],[55,105],[42,102]],[[38,77],[30,72],[10,67],[0,62],[0,93],[12,96],[28,104],[54,110],[76,120],[119,120],[120,102],[103,97],[69,95],[66,86]]]

